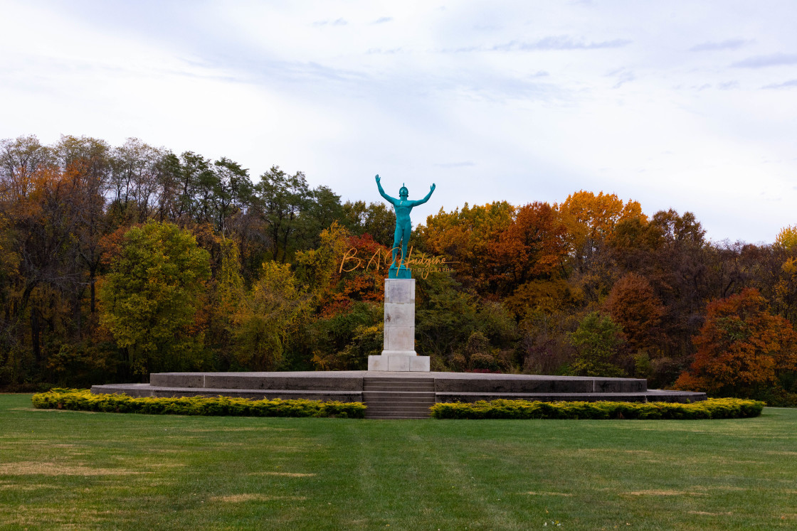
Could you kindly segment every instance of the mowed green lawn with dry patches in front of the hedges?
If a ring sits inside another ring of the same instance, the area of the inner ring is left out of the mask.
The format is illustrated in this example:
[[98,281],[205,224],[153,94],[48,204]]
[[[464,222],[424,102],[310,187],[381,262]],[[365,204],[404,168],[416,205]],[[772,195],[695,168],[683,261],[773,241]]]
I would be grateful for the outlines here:
[[797,410],[337,420],[0,395],[0,529],[797,529]]

